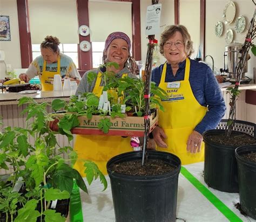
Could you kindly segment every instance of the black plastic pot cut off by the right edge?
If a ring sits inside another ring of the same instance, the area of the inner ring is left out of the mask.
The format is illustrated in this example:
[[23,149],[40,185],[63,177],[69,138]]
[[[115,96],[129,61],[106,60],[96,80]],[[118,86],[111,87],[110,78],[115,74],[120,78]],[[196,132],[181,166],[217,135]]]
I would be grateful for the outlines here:
[[235,149],[238,164],[239,197],[241,209],[256,219],[256,163],[242,158],[241,155],[256,152],[256,145],[245,145]]

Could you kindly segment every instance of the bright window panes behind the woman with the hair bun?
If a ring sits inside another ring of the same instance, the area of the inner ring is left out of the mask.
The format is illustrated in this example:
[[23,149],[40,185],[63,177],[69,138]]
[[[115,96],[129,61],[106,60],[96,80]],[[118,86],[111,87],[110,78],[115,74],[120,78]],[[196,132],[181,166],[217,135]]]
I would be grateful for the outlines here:
[[[69,56],[78,68],[77,44],[59,44],[60,53]],[[41,56],[40,44],[32,44],[32,59]]]

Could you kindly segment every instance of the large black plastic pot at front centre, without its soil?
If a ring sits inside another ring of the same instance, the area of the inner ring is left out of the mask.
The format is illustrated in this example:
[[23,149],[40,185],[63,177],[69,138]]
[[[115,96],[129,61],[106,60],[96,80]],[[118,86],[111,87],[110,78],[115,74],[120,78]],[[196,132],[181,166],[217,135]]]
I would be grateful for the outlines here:
[[180,159],[169,152],[147,152],[149,159],[161,159],[176,169],[158,176],[122,175],[112,172],[110,165],[142,159],[142,151],[126,152],[111,158],[107,162],[107,172],[117,222],[176,221]]

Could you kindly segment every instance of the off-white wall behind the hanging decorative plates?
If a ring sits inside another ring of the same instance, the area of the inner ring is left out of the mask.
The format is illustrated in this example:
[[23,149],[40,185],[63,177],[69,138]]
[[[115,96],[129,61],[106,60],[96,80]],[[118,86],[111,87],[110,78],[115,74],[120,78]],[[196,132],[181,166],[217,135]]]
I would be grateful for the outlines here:
[[[205,53],[210,54],[214,58],[215,67],[224,68],[224,51],[225,46],[225,32],[227,29],[232,29],[234,33],[234,40],[239,43],[244,43],[246,36],[246,29],[242,33],[236,33],[234,29],[235,19],[238,16],[246,17],[246,27],[253,16],[254,5],[251,0],[235,0],[236,14],[234,21],[230,25],[224,24],[224,31],[221,37],[215,36],[214,27],[218,21],[223,21],[223,9],[229,0],[207,0],[206,1],[206,36],[205,36]],[[256,39],[254,39],[255,43]],[[233,43],[233,42],[232,42]],[[251,59],[248,61],[248,72],[246,76],[253,78],[253,67],[256,67],[256,57],[250,51]]]

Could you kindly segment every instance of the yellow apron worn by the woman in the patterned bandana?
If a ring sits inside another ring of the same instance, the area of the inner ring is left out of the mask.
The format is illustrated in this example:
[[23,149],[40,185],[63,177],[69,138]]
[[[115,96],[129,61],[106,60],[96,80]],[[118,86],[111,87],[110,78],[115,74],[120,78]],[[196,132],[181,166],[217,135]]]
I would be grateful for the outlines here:
[[[122,78],[127,74],[123,74]],[[93,93],[102,94],[103,87],[100,86],[102,77],[98,74]],[[130,137],[101,136],[101,135],[77,135],[74,149],[78,154],[74,168],[84,177],[83,160],[90,159],[98,165],[104,175],[107,174],[106,163],[110,158],[123,152],[132,151]]]

